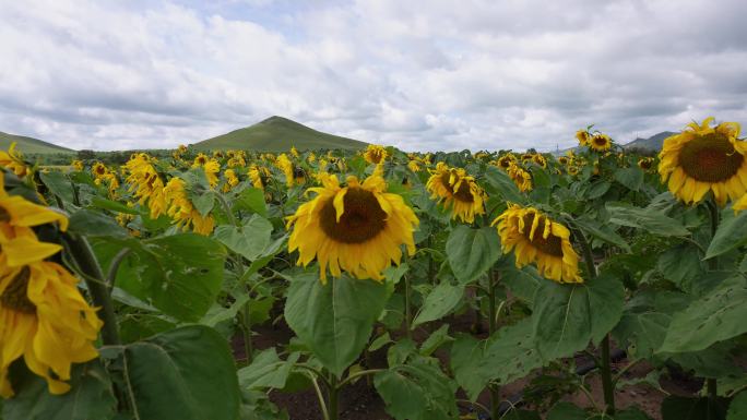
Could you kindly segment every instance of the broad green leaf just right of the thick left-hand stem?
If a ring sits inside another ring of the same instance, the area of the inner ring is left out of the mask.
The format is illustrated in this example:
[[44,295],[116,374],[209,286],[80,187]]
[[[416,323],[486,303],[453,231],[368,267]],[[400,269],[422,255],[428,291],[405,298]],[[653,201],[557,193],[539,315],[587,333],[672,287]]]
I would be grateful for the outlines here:
[[226,259],[218,242],[181,233],[145,241],[99,242],[96,250],[104,262],[123,247],[131,252],[119,266],[116,286],[186,322],[199,321],[212,307],[221,290]]

